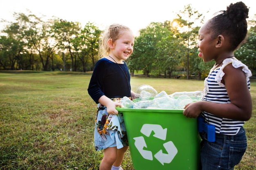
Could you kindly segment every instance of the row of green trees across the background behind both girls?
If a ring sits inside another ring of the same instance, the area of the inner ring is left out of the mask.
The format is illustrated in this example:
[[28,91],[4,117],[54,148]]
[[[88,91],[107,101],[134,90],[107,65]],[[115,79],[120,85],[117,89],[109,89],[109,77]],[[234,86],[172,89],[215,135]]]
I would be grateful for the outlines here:
[[[81,28],[79,22],[56,17],[45,20],[31,13],[14,13],[14,22],[2,31],[0,37],[0,70],[45,70],[88,72],[98,60],[101,31],[88,22]],[[177,71],[187,79],[207,76],[213,62],[204,63],[198,57],[198,24],[204,17],[191,4],[177,13],[172,21],[152,22],[135,37],[132,56],[126,61],[131,75],[139,70],[146,76],[172,78]],[[255,19],[245,44],[235,55],[256,74]],[[186,72],[186,73],[184,73]]]

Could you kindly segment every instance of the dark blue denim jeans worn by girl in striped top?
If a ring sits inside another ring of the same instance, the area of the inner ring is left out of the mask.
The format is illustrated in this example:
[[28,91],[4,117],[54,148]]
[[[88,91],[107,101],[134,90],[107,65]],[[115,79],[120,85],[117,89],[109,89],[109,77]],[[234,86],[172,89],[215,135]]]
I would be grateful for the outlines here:
[[245,129],[241,127],[236,135],[216,133],[216,141],[208,142],[205,133],[200,133],[202,170],[233,170],[247,148]]

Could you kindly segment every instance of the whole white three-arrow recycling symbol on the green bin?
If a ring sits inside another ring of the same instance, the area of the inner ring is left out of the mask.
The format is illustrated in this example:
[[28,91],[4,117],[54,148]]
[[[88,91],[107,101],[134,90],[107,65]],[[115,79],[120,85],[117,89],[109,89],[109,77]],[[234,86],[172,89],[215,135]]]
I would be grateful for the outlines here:
[[[154,133],[155,133],[153,135],[154,137],[157,137],[158,139],[161,139],[164,141],[166,140],[167,128],[163,129],[162,126],[159,124],[144,124],[140,130],[140,132],[147,137],[150,136],[152,131],[154,131]],[[148,160],[152,161],[153,160],[152,152],[149,150],[143,149],[144,147],[147,148],[147,144],[145,142],[144,137],[139,136],[139,137],[134,137],[133,139],[135,140],[135,143],[134,143],[135,147],[137,148],[137,150],[139,151],[141,156],[144,159],[148,159]],[[154,155],[154,157],[162,165],[164,165],[164,163],[171,163],[171,161],[173,160],[175,155],[178,153],[178,150],[172,141],[168,141],[168,142],[164,143],[163,146],[166,149],[168,154],[163,153],[163,150],[161,149]]]

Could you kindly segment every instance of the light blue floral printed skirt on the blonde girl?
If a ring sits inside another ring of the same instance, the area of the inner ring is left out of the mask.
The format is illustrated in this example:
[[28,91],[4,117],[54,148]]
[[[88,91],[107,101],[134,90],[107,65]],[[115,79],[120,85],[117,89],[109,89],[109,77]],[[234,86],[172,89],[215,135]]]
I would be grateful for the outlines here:
[[100,103],[94,129],[94,146],[95,150],[128,146],[123,114],[108,115],[107,108]]

